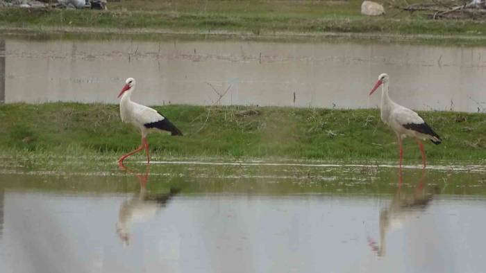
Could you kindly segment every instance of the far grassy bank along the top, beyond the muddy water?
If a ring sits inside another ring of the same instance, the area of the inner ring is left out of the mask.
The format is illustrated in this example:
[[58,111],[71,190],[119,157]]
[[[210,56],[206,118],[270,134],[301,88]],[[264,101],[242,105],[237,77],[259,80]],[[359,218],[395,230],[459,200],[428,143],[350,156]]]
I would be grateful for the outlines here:
[[[349,1],[119,1],[110,10],[0,9],[0,25],[41,31],[61,27],[89,33],[160,30],[189,33],[218,31],[263,35],[269,33],[380,33],[463,35],[483,40],[486,25],[473,20],[431,20],[388,7],[387,15],[360,14],[360,0]],[[7,31],[8,32],[8,31]],[[429,37],[430,38],[430,37]],[[390,38],[393,39],[393,38]],[[477,42],[477,41],[476,41]]]

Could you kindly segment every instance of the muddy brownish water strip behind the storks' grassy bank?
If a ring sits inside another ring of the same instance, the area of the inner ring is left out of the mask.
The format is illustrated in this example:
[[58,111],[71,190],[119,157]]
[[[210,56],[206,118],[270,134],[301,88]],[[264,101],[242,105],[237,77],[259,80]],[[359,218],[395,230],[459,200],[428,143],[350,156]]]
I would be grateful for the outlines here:
[[380,96],[368,93],[378,74],[387,72],[393,98],[408,107],[466,112],[486,107],[486,49],[480,47],[171,38],[6,39],[5,48],[0,55],[7,103],[117,103],[124,79],[134,77],[133,98],[149,105],[377,107]]

